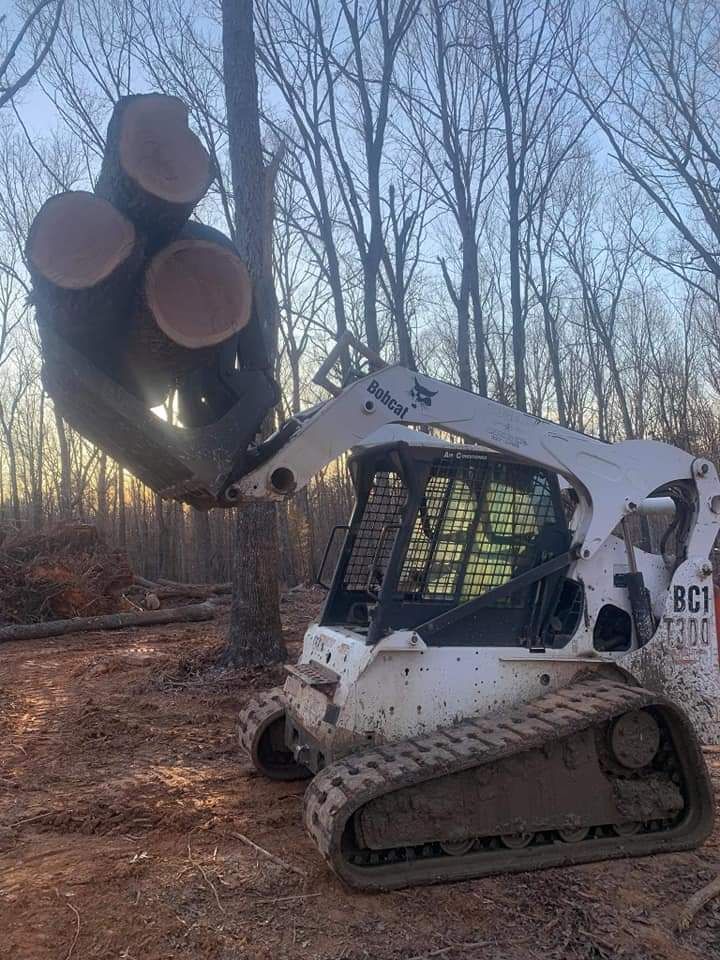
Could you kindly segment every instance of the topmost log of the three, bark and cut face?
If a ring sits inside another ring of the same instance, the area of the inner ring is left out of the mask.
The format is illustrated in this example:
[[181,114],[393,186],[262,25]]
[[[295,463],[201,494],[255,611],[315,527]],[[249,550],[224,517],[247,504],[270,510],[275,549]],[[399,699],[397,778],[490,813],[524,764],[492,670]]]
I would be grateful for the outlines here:
[[213,179],[188,109],[160,93],[122,97],[108,124],[96,193],[122,210],[157,248],[185,223]]

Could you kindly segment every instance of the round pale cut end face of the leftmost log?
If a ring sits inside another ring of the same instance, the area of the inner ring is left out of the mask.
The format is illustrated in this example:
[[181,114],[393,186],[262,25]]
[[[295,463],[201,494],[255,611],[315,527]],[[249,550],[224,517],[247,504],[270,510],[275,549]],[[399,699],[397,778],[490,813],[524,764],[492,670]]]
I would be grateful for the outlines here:
[[112,204],[82,190],[60,193],[42,207],[28,240],[36,273],[65,290],[93,287],[130,256],[135,228]]

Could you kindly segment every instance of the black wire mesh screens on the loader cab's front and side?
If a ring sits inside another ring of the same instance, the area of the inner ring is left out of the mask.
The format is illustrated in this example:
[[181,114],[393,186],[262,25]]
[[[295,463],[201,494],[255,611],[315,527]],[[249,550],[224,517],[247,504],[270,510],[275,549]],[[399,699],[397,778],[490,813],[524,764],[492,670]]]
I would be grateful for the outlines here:
[[[346,590],[380,587],[406,503],[401,477],[378,471],[345,567]],[[538,534],[557,521],[543,471],[482,456],[441,461],[415,516],[397,592],[455,603],[480,596],[540,562]],[[498,601],[522,603],[522,596]]]

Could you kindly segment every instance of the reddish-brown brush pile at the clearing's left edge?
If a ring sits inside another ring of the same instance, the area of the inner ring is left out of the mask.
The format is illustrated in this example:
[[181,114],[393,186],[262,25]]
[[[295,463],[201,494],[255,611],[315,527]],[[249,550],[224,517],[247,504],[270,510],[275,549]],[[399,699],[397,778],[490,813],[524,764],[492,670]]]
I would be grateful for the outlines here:
[[91,524],[56,524],[0,542],[0,625],[90,617],[127,609],[133,573]]

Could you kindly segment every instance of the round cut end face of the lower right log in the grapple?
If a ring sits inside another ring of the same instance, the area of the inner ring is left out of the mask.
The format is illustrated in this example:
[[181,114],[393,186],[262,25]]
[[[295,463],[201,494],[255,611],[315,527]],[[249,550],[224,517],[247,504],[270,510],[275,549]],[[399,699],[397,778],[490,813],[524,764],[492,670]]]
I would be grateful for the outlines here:
[[185,238],[153,258],[145,296],[163,333],[199,349],[222,343],[246,326],[252,285],[247,267],[231,250]]

